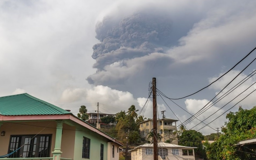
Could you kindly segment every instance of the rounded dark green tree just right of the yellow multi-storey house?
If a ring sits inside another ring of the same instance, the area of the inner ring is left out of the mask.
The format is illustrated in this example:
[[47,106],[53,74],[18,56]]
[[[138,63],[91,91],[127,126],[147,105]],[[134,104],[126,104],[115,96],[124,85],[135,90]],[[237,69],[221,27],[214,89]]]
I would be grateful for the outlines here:
[[202,141],[204,136],[202,133],[195,130],[184,130],[179,137],[178,144],[189,147],[197,147],[194,149],[195,156],[206,157],[206,152],[203,149]]

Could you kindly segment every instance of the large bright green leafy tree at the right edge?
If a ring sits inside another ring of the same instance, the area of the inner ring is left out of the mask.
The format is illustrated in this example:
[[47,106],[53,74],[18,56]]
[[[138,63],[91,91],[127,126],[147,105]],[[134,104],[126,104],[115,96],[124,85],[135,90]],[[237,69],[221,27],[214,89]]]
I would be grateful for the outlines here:
[[210,144],[204,142],[207,157],[209,159],[255,159],[255,149],[247,149],[244,146],[238,147],[238,141],[256,137],[256,106],[250,110],[242,109],[230,112],[226,115],[228,122],[221,128],[220,137]]

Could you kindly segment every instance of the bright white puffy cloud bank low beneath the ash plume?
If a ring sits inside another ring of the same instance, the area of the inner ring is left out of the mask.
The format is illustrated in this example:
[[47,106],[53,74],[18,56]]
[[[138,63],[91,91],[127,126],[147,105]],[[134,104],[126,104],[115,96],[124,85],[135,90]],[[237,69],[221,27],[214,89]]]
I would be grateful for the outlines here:
[[[60,103],[74,103],[80,100],[86,100],[88,110],[97,110],[96,102],[99,102],[99,110],[102,113],[115,114],[121,110],[127,111],[131,105],[135,105],[139,109],[137,114],[144,115],[146,118],[153,118],[153,103],[147,98],[134,98],[132,93],[119,91],[107,86],[94,86],[90,89],[86,88],[69,88],[63,91]],[[93,105],[95,104],[95,105]],[[86,104],[85,104],[86,105]],[[145,108],[143,108],[145,105]],[[80,105],[78,105],[80,107]],[[66,106],[67,109],[70,109]],[[151,109],[150,109],[151,108]],[[164,104],[157,104],[158,113],[166,110]],[[76,113],[79,108],[72,108],[72,112]],[[161,114],[158,115],[160,118]],[[170,117],[166,117],[170,118]]]

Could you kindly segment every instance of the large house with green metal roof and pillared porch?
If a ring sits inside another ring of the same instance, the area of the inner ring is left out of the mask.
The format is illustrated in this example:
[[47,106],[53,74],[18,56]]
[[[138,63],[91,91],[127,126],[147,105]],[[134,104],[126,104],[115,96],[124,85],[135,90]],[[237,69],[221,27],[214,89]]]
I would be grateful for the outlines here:
[[122,143],[27,93],[0,97],[0,160],[117,160]]

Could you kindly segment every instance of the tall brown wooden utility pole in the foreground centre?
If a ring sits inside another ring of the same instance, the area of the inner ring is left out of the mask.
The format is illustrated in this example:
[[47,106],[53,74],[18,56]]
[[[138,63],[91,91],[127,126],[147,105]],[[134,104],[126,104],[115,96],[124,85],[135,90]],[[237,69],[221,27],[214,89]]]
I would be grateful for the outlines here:
[[156,78],[152,79],[152,92],[153,92],[153,157],[158,160],[157,152],[157,103],[156,103]]

